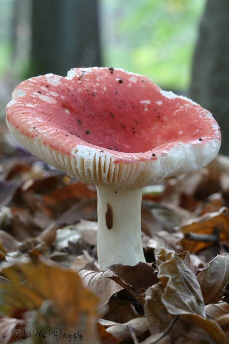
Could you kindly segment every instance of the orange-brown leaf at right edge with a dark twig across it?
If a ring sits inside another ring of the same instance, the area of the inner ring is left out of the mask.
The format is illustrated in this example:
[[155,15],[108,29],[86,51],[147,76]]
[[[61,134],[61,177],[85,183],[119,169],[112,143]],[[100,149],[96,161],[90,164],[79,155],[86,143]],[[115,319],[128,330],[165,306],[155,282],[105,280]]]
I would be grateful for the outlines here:
[[[181,226],[180,230],[184,235],[186,233],[211,235],[215,227],[220,231],[220,241],[229,243],[229,210],[227,208],[221,208],[218,212],[205,214],[195,220],[191,220]],[[180,244],[191,253],[198,252],[211,245],[187,239],[182,239]]]

